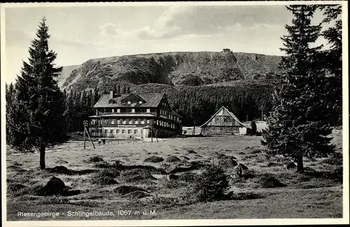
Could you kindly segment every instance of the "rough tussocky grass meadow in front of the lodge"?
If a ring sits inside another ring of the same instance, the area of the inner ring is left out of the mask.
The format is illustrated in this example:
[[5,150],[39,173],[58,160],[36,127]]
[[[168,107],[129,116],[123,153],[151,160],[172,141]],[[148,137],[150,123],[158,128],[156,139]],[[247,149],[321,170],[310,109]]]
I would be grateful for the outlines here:
[[[304,174],[287,170],[280,156],[267,157],[258,136],[112,142],[96,149],[89,143],[83,149],[81,141],[70,141],[48,150],[48,170],[38,169],[38,153],[16,154],[8,149],[7,219],[341,218],[342,131],[337,129],[332,136],[337,155],[305,159]],[[236,196],[190,203],[185,195],[202,168],[218,163],[223,154],[235,156],[237,163],[248,167],[239,179],[226,170],[228,191]],[[261,180],[265,175],[284,186],[266,186]],[[53,176],[63,180],[66,194],[38,196],[40,187]],[[74,211],[113,215],[69,216]],[[59,212],[59,217],[18,217],[18,212]]]

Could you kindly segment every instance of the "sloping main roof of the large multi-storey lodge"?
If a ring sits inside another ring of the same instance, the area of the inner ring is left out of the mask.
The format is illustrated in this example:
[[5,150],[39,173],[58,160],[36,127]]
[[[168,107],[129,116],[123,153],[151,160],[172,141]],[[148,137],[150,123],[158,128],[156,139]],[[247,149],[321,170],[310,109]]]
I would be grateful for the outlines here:
[[[162,98],[165,96],[164,93],[149,93],[149,94],[135,94],[142,98],[146,103],[132,103],[132,104],[123,104],[121,101],[130,96],[130,94],[122,94],[121,96],[110,98],[110,94],[103,94],[99,101],[94,104],[94,108],[127,108],[127,107],[144,107],[144,108],[157,108],[162,101]],[[109,103],[113,99],[116,103]]]

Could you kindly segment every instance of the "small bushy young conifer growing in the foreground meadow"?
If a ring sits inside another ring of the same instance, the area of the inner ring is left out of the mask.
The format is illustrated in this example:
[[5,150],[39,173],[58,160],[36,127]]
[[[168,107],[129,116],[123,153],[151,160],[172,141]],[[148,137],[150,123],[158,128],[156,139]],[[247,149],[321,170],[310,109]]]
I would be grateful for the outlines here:
[[199,202],[221,200],[228,189],[228,179],[221,168],[210,166],[198,175],[193,184],[193,197]]

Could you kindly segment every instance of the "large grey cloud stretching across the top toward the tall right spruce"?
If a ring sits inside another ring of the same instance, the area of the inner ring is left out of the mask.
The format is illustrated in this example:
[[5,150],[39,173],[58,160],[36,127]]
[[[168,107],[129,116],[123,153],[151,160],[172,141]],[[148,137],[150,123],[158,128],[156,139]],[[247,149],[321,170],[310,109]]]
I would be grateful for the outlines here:
[[283,6],[172,6],[151,26],[137,31],[141,39],[218,36],[225,31],[275,29],[289,20]]

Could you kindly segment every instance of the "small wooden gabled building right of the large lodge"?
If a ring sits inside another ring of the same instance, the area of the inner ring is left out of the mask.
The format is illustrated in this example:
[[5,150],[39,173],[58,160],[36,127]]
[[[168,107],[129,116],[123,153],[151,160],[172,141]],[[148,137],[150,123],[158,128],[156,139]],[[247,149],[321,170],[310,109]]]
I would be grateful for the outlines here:
[[223,106],[201,129],[202,135],[246,135],[248,126]]

